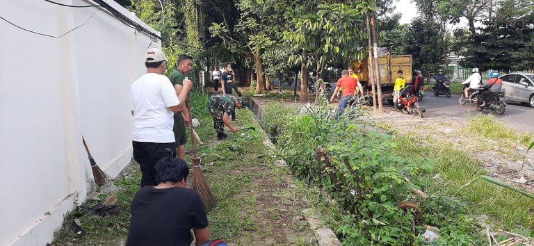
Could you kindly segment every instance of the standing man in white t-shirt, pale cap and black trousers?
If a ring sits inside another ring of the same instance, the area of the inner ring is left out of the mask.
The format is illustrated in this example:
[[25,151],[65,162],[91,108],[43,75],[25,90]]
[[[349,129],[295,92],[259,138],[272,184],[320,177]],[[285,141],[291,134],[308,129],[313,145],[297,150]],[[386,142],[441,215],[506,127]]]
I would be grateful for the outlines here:
[[147,73],[140,76],[130,88],[133,115],[133,158],[141,169],[141,187],[156,186],[154,165],[163,157],[176,156],[175,134],[172,132],[174,113],[186,101],[193,83],[184,80],[180,95],[163,75],[167,58],[157,48],[145,54]]

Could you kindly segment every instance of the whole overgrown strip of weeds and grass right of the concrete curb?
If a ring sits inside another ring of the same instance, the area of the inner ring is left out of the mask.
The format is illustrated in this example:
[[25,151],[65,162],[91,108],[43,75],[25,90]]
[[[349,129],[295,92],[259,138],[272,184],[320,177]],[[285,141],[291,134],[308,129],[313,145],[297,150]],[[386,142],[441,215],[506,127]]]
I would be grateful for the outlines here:
[[[486,172],[462,149],[396,131],[389,136],[366,130],[373,128],[358,120],[365,114],[360,111],[353,112],[356,119],[335,121],[325,107],[299,115],[300,108],[269,102],[261,124],[343,245],[418,245],[423,224],[440,229],[438,245],[485,245],[484,224],[526,236],[533,231],[532,199],[483,179],[472,181]],[[376,126],[394,130],[385,123]],[[527,144],[526,135],[505,130],[487,137]],[[318,160],[318,148],[325,149],[330,163]],[[429,197],[415,196],[412,188]],[[403,202],[417,208],[399,208]]]

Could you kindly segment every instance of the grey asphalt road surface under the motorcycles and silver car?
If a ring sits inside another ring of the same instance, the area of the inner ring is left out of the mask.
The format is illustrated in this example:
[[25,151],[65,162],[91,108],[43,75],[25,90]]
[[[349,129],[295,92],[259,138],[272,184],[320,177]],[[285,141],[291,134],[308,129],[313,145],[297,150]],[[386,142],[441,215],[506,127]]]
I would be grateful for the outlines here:
[[[435,97],[432,92],[426,92],[423,101],[419,105],[426,108],[425,117],[455,117],[462,122],[467,122],[468,115],[476,115],[478,112],[475,105],[466,103],[460,105],[459,95],[452,95],[451,98],[445,96]],[[512,126],[519,131],[534,132],[534,108],[508,101],[508,106],[503,115],[495,115],[507,126]],[[484,114],[491,113],[490,110],[483,110]]]

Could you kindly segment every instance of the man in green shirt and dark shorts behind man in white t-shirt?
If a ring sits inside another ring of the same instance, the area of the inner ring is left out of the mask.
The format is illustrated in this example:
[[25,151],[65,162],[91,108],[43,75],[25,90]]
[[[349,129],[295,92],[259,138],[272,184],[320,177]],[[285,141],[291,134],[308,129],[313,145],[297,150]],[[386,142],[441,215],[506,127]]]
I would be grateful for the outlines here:
[[[186,79],[185,74],[191,72],[193,68],[193,57],[187,55],[181,55],[178,58],[178,68],[172,71],[169,76],[170,82],[175,86],[177,95],[180,95],[182,83]],[[191,115],[189,115],[189,110],[187,109],[186,104],[182,108],[181,113],[175,113],[175,126],[172,128],[172,131],[175,132],[175,145],[176,145],[176,155],[178,158],[184,160],[186,156],[186,125],[189,125],[191,122]]]

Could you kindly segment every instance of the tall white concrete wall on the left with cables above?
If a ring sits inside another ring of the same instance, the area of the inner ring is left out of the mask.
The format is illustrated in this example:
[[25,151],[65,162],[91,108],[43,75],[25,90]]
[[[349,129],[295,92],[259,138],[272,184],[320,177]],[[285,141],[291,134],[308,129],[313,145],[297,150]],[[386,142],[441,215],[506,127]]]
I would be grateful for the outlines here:
[[129,88],[146,71],[147,47],[161,44],[103,9],[35,0],[0,0],[0,6],[1,17],[49,35],[92,15],[63,38],[0,19],[0,245],[45,245],[94,187],[82,134],[111,177],[129,162]]

